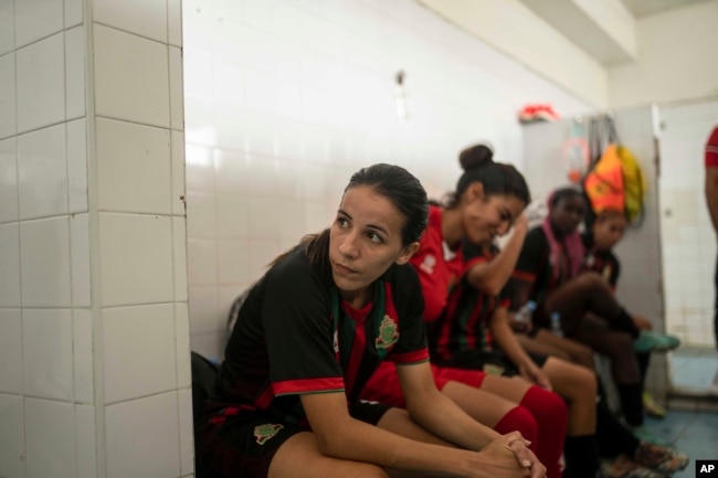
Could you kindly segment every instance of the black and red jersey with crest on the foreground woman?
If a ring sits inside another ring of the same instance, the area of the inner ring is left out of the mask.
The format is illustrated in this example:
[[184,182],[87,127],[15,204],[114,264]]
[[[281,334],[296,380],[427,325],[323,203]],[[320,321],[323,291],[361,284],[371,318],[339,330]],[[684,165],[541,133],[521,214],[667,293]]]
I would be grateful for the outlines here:
[[373,284],[372,300],[344,304],[330,274],[295,248],[252,288],[220,368],[213,403],[304,424],[299,395],[344,391],[348,403],[382,360],[427,360],[423,300],[409,265]]

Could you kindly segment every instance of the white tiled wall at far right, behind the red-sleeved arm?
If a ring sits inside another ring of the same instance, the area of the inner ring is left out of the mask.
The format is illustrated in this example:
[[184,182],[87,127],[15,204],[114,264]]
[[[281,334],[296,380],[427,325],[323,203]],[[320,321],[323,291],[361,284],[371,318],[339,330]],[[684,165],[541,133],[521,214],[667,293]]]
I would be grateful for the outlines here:
[[718,102],[661,108],[661,209],[666,326],[686,344],[715,347],[716,233],[704,195],[704,155]]

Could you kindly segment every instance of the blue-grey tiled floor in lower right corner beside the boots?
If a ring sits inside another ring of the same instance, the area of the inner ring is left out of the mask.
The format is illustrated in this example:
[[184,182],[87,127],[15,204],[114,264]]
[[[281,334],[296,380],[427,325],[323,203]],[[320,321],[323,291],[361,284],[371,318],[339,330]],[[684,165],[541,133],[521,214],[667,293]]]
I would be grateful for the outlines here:
[[718,459],[718,395],[707,390],[718,371],[718,352],[679,349],[669,355],[674,393],[663,419],[646,418],[645,425],[659,438],[688,454],[690,463],[674,478],[695,478],[696,459]]

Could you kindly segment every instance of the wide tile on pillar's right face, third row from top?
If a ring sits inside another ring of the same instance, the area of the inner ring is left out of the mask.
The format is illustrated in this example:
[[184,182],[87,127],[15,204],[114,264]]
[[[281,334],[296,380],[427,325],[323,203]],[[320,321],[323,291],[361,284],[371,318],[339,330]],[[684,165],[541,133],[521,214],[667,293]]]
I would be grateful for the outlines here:
[[101,210],[170,213],[170,131],[97,118]]

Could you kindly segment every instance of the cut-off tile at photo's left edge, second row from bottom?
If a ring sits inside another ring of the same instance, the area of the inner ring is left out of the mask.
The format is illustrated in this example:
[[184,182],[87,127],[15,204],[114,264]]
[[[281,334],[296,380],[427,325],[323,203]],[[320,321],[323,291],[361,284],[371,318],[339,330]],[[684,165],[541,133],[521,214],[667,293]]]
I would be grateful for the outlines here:
[[[0,363],[2,363],[0,392],[22,394],[22,318],[20,309],[0,308]],[[2,476],[1,470],[0,476]]]

